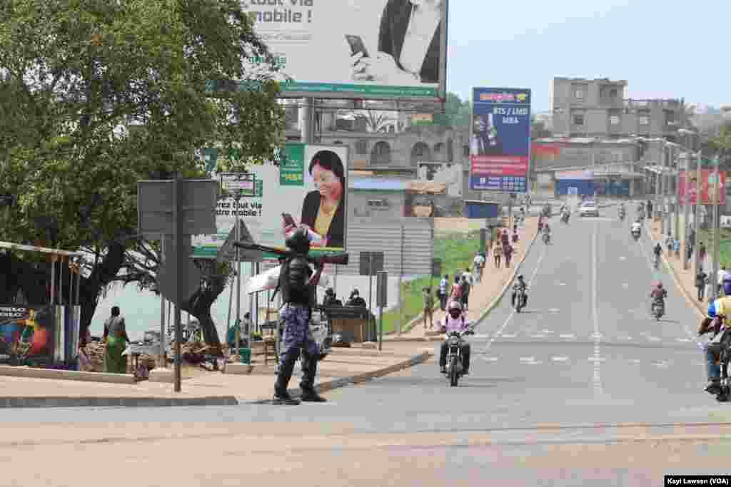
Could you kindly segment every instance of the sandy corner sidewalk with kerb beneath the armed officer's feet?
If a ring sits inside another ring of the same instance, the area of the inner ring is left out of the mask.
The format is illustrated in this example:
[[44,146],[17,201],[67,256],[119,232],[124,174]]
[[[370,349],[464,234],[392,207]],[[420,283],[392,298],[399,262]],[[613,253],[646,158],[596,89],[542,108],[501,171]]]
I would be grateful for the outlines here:
[[[335,348],[319,362],[316,388],[332,388],[365,382],[427,361],[431,350],[422,345],[392,343],[382,352],[365,348]],[[421,347],[421,348],[420,348]],[[171,383],[148,380],[136,384],[94,383],[77,380],[35,379],[0,375],[0,407],[80,406],[191,406],[235,405],[271,399],[274,363],[254,361],[250,375],[227,375],[203,369],[188,369],[179,393]],[[299,394],[299,362],[289,383],[290,394]]]

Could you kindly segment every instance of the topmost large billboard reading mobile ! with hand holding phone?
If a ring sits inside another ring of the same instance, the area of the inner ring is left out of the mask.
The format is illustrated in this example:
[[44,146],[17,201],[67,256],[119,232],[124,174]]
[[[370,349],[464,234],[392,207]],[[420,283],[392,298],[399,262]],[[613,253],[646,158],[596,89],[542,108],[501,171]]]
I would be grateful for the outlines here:
[[443,99],[447,0],[242,0],[283,96]]

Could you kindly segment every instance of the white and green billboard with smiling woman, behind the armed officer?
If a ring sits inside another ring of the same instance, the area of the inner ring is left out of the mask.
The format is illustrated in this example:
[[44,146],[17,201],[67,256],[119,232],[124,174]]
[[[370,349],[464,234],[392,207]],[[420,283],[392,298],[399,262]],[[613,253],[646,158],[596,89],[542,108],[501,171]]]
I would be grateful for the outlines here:
[[249,166],[254,196],[240,199],[238,210],[232,197],[219,200],[218,232],[192,238],[194,257],[217,256],[229,235],[235,235],[237,211],[260,245],[284,248],[286,235],[306,226],[313,253],[345,250],[348,147],[293,143],[285,152],[279,166]]

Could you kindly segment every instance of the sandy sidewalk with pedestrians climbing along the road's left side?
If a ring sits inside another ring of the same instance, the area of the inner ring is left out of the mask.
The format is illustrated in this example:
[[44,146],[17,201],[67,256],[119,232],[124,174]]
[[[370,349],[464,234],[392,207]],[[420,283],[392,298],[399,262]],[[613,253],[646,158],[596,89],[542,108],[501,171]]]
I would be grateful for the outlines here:
[[[467,311],[468,321],[479,321],[486,312],[491,309],[496,299],[502,296],[505,286],[512,281],[515,276],[516,269],[520,266],[520,263],[526,257],[526,250],[531,245],[531,241],[534,239],[538,231],[538,218],[528,217],[526,218],[525,226],[518,228],[519,239],[514,245],[515,255],[510,262],[510,267],[505,267],[505,260],[501,263],[501,267],[496,269],[493,263],[492,255],[488,256],[488,262],[485,264],[485,271],[482,273],[482,282],[476,283],[469,293],[469,310]],[[452,275],[455,269],[446,269],[445,272]],[[437,308],[434,311],[434,328],[432,331],[437,331],[437,323],[444,318],[445,312]],[[427,329],[424,329],[424,321],[422,317],[416,318],[418,321],[416,325],[410,330],[401,334],[400,337],[392,335],[390,337],[384,337],[383,341],[398,342],[399,340],[423,340],[427,334]],[[441,338],[439,339],[441,340]]]

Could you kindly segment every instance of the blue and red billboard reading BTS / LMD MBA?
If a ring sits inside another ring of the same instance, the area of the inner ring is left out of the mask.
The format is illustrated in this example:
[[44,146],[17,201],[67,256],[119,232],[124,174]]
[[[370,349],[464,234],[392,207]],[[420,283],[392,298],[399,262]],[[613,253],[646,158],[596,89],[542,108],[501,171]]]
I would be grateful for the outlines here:
[[473,191],[528,191],[531,91],[473,88],[470,180]]

